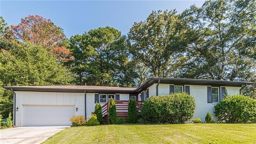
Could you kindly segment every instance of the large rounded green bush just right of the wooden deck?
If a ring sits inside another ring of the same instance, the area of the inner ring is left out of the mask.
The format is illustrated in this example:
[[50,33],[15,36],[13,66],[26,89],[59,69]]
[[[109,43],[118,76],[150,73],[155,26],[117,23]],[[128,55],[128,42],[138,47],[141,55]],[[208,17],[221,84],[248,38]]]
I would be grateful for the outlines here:
[[185,123],[196,111],[196,101],[188,93],[152,96],[141,107],[141,116],[150,123]]

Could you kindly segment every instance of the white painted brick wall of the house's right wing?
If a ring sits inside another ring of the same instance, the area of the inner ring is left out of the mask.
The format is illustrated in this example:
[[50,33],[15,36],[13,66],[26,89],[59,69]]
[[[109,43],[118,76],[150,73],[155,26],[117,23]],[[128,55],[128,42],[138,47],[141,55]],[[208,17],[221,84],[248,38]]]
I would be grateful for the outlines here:
[[[149,87],[149,97],[156,95],[156,85],[153,84]],[[170,93],[170,86],[171,84],[159,84],[158,86],[158,95],[166,95]],[[177,85],[178,86],[178,85]],[[190,95],[193,96],[196,100],[196,113],[192,119],[201,118],[202,121],[205,119],[205,115],[207,112],[210,112],[214,117],[214,106],[217,103],[208,103],[207,102],[207,86],[196,86],[196,85],[189,85],[190,86]],[[239,94],[241,87],[230,87],[226,86],[228,91],[228,95]],[[183,90],[184,91],[184,90]]]

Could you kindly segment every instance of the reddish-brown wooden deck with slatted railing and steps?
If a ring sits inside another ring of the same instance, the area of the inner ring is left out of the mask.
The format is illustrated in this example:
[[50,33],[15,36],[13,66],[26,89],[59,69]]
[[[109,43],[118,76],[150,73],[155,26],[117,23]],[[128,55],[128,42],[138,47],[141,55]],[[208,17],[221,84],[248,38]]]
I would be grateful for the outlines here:
[[[130,100],[115,100],[116,104],[116,112],[118,119],[120,117],[123,117],[125,121],[127,122],[127,114],[128,114],[128,104]],[[110,104],[110,100],[103,106],[102,108],[102,115],[103,115],[103,123],[108,123],[108,107]],[[137,106],[137,113],[140,115],[141,111],[141,106],[144,104],[144,101],[136,101],[136,106]]]

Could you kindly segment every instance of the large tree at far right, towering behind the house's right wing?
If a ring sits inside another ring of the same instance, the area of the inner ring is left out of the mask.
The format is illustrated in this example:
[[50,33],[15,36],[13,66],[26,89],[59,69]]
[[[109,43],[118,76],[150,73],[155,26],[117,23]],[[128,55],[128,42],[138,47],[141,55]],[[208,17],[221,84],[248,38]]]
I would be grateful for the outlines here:
[[255,1],[206,1],[182,13],[193,41],[182,78],[239,80],[255,72]]

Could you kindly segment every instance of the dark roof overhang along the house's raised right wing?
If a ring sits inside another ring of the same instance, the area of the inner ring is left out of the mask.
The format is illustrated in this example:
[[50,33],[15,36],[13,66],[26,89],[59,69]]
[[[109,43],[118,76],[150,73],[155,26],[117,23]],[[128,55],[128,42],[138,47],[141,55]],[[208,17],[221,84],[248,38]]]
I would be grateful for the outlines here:
[[141,92],[146,90],[149,86],[155,83],[160,84],[174,84],[174,85],[204,85],[204,86],[236,86],[242,87],[245,85],[252,85],[253,82],[243,81],[227,81],[227,80],[207,80],[207,79],[175,79],[175,78],[149,78],[146,82],[140,85],[136,91]]

